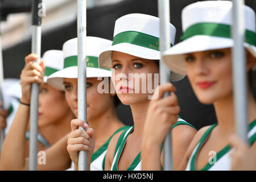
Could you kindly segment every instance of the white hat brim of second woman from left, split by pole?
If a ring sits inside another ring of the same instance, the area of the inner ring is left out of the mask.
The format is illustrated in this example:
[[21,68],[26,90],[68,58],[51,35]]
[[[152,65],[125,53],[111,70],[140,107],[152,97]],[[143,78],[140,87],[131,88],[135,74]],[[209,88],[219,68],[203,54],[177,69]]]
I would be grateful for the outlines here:
[[[99,68],[86,67],[86,77],[111,77],[112,72]],[[53,88],[65,91],[63,85],[63,78],[77,78],[78,70],[77,67],[68,67],[61,69],[50,75],[47,79],[47,83]]]

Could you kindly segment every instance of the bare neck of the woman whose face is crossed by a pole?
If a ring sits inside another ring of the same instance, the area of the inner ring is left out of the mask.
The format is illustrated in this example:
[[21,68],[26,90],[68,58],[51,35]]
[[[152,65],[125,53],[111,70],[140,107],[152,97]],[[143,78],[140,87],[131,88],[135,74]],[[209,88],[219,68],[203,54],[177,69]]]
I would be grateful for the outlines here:
[[98,115],[97,118],[90,119],[88,124],[94,131],[96,142],[104,142],[116,130],[124,126],[117,117],[114,105],[109,107],[104,113]]

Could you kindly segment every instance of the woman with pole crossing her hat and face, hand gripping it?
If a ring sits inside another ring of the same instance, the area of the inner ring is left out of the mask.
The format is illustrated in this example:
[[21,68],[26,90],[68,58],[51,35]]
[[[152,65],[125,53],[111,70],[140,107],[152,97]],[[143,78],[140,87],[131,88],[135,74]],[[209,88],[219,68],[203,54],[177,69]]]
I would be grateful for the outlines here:
[[[95,146],[92,148],[93,155],[90,169],[104,170],[106,149],[113,134],[126,129],[126,126],[119,121],[115,107],[118,104],[115,93],[100,93],[101,85],[104,84],[99,77],[104,77],[107,86],[110,88],[111,71],[98,68],[98,55],[112,41],[91,37],[86,38],[86,109],[87,123],[93,128]],[[64,69],[54,73],[48,79],[48,83],[59,90],[65,90],[65,97],[73,113],[77,113],[77,38],[68,40],[63,45]],[[102,88],[103,89],[103,88]],[[82,148],[79,142],[85,142],[79,134],[86,135],[85,131],[78,130],[79,126],[88,126],[80,119],[73,119],[71,122],[72,133],[68,135],[68,152],[77,169],[78,151]],[[107,130],[106,130],[107,129]],[[89,153],[89,152],[88,152]],[[90,156],[89,158],[90,159]]]

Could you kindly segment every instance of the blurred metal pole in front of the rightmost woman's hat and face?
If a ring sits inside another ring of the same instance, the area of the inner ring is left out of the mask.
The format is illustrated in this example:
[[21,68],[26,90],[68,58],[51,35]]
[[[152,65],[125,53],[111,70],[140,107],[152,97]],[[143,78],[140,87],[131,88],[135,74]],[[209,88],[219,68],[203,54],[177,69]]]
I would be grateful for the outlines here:
[[245,12],[244,0],[233,0],[233,26],[232,37],[234,47],[232,48],[233,67],[233,90],[234,90],[234,116],[236,121],[236,133],[244,142],[247,140],[247,76],[246,56],[243,43],[245,42]]

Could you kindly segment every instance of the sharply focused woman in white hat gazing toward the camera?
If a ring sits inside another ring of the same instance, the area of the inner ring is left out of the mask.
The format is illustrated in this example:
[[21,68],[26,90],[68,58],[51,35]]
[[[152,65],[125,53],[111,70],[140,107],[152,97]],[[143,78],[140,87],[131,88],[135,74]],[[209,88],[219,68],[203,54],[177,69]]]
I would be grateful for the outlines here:
[[[171,24],[170,28],[170,42],[174,44],[175,28]],[[141,170],[144,121],[151,94],[159,81],[158,40],[158,18],[144,14],[125,15],[115,22],[112,46],[99,57],[100,68],[113,69],[112,80],[117,96],[123,104],[130,105],[134,119],[134,126],[115,134],[110,141],[106,170]],[[179,79],[182,77],[177,75]],[[168,115],[166,119],[176,123],[173,130],[176,167],[196,130],[183,119],[177,118],[179,108],[176,107],[174,94],[167,98],[169,102],[175,107],[171,110],[172,116]]]

